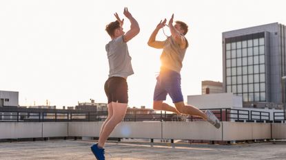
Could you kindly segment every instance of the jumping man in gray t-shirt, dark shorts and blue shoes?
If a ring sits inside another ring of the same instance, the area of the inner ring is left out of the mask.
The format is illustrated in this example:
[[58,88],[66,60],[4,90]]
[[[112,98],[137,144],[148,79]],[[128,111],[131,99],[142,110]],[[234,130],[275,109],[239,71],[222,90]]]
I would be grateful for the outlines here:
[[126,34],[123,31],[124,19],[121,20],[117,13],[114,14],[117,21],[109,23],[105,28],[112,39],[105,46],[110,66],[109,78],[104,85],[105,93],[108,97],[108,118],[101,126],[99,143],[91,146],[94,156],[99,160],[105,159],[103,149],[105,141],[108,139],[115,126],[125,117],[128,102],[128,87],[126,80],[127,76],[134,73],[127,42],[139,34],[140,28],[127,8],[124,8],[123,14],[131,23],[130,30],[128,30]]

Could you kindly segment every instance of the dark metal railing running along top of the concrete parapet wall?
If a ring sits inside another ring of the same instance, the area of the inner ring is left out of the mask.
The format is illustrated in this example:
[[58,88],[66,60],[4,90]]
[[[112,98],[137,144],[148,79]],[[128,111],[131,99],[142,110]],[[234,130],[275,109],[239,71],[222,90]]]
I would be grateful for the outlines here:
[[[207,109],[202,109],[205,111]],[[270,113],[265,111],[248,111],[234,108],[210,109],[223,122],[271,122]],[[201,117],[176,115],[161,111],[160,113],[142,114],[132,111],[126,114],[125,122],[160,121],[160,122],[195,122],[203,121]],[[282,115],[281,115],[282,113]],[[108,117],[107,111],[78,111],[61,109],[0,108],[0,122],[103,122]],[[283,112],[274,113],[274,122],[283,117]],[[282,119],[282,120],[283,120]]]

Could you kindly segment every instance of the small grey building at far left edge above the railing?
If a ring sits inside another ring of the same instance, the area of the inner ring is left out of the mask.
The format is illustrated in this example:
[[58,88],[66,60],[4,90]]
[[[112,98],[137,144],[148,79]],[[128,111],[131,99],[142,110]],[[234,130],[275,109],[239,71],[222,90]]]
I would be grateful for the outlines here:
[[0,107],[18,107],[19,92],[0,91]]

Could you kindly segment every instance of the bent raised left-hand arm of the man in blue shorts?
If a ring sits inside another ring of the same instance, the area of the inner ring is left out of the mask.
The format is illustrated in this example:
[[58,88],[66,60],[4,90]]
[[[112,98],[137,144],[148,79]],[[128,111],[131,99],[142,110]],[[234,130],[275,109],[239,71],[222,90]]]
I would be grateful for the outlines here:
[[155,28],[155,30],[152,32],[149,41],[148,41],[148,45],[150,47],[154,47],[157,49],[162,49],[165,45],[165,41],[156,41],[156,36],[159,32],[159,30],[165,26],[166,24],[166,19],[164,19],[164,21],[162,22],[162,20],[160,21],[160,23],[157,25],[157,27]]

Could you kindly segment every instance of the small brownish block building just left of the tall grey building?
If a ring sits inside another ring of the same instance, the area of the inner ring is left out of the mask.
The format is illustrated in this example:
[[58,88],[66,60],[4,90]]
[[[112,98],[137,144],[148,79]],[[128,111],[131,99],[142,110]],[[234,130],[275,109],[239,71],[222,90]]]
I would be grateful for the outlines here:
[[212,93],[223,93],[223,83],[212,80],[202,81],[202,95]]

